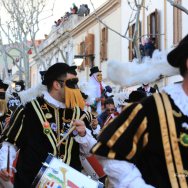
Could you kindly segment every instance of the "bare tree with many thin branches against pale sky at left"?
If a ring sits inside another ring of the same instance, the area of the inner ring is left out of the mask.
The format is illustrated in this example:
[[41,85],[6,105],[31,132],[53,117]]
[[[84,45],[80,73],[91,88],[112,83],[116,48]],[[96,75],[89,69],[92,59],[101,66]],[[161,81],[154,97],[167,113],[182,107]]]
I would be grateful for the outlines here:
[[[30,49],[35,52],[35,55],[40,59],[40,63],[45,68],[45,62],[41,58],[40,53],[38,53],[35,41],[36,34],[39,31],[40,18],[47,2],[48,0],[1,1],[2,7],[7,12],[7,19],[5,24],[3,24],[0,18],[0,28],[7,37],[9,45],[14,44],[14,46],[17,46],[16,50],[19,52],[19,59],[23,62],[23,67],[20,67],[20,70],[23,70],[26,87],[30,86],[28,54]],[[20,65],[17,64],[17,66]]]

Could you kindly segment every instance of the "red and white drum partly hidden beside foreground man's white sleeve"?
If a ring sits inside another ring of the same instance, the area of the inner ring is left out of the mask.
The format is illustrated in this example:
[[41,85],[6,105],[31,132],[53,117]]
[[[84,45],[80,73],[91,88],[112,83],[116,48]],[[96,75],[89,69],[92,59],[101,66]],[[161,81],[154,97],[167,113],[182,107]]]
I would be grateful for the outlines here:
[[82,167],[84,168],[85,174],[91,176],[93,180],[99,180],[100,178],[106,176],[101,164],[94,155],[91,155],[89,157],[81,155],[80,161]]

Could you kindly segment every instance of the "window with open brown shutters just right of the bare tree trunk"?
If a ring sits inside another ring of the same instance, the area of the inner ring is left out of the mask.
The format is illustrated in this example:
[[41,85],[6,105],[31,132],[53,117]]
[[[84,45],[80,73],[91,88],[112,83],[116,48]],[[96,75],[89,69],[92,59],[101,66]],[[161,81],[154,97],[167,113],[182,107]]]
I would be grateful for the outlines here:
[[159,13],[157,9],[147,17],[147,33],[155,48],[160,49]]

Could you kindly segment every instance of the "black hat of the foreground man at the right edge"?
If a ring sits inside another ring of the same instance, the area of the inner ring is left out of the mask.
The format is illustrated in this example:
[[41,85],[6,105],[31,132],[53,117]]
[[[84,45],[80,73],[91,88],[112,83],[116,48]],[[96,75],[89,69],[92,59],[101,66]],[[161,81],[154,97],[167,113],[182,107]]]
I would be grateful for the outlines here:
[[180,64],[186,58],[188,58],[188,35],[167,55],[167,60],[173,67],[180,67]]

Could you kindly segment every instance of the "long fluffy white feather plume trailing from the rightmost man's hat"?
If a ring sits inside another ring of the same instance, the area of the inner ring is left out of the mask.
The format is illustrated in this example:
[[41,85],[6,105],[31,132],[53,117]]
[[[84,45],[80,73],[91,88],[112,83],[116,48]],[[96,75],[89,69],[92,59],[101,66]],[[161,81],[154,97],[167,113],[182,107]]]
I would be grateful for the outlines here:
[[179,74],[179,70],[167,63],[166,54],[155,50],[153,57],[144,57],[142,63],[108,61],[107,76],[115,84],[134,86],[151,83],[159,79],[160,75],[172,76]]

